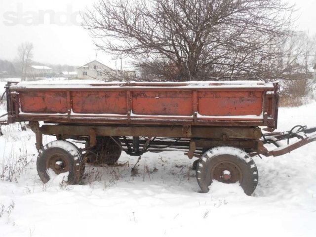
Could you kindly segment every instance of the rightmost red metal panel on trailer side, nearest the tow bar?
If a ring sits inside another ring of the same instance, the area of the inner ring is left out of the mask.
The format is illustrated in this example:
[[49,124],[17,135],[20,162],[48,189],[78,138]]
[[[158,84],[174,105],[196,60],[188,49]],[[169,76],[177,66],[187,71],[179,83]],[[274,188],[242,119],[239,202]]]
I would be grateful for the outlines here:
[[202,91],[198,113],[203,116],[261,115],[262,91]]

